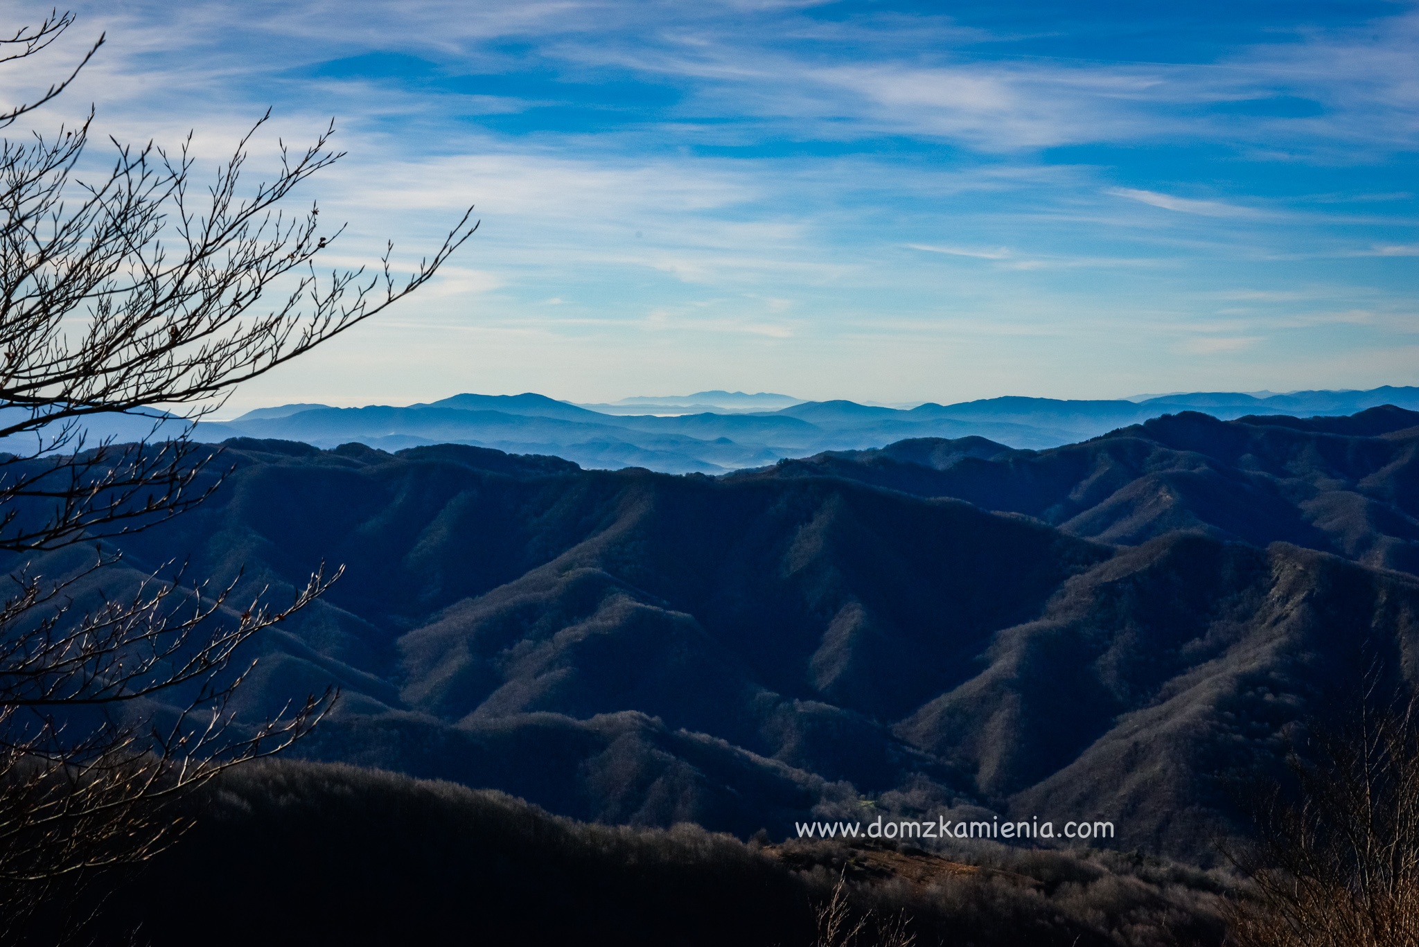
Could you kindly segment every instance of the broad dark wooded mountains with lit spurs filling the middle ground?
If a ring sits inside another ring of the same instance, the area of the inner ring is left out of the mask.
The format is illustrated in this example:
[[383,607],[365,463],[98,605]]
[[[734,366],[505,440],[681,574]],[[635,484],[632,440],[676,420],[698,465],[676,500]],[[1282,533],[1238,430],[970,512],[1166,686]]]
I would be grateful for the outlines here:
[[1200,859],[1239,774],[1365,669],[1419,666],[1419,413],[1395,406],[722,477],[257,439],[217,467],[207,503],[118,540],[105,595],[175,554],[275,602],[343,564],[264,637],[241,713],[336,681],[304,755],[586,821],[1088,818]]

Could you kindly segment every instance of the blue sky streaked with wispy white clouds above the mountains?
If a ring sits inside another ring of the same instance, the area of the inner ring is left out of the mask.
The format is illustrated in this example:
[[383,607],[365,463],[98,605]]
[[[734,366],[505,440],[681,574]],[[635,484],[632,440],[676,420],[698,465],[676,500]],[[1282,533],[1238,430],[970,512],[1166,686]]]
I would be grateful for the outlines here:
[[104,135],[192,131],[214,162],[271,108],[255,183],[333,118],[348,155],[299,192],[348,221],[332,264],[393,240],[407,266],[481,220],[434,283],[227,413],[1419,385],[1415,3],[72,10],[0,72],[23,97],[106,33],[33,129],[92,104]]

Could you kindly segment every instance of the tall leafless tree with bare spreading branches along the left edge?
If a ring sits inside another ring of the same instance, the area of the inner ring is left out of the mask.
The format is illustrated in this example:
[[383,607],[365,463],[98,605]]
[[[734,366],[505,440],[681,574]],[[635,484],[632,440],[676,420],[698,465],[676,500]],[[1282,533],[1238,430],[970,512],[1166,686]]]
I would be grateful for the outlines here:
[[[55,13],[0,38],[0,64],[72,23]],[[60,95],[102,43],[0,114],[0,129]],[[228,710],[250,670],[234,663],[240,646],[339,571],[322,566],[285,608],[234,603],[234,585],[182,569],[109,601],[95,574],[118,555],[102,540],[200,503],[221,477],[192,422],[417,290],[477,227],[470,209],[406,278],[392,246],[373,274],[322,274],[315,257],[341,229],[322,234],[318,207],[292,216],[282,202],[341,158],[333,125],[304,150],[282,143],[274,179],[244,190],[265,118],[206,187],[187,143],[114,142],[108,170],[85,177],[92,118],[0,143],[0,554],[16,564],[0,593],[0,940],[85,873],[152,856],[182,829],[165,802],[288,745],[331,706],[312,694],[260,724]],[[152,417],[150,434],[89,443],[87,423],[115,413]],[[34,569],[34,555],[81,542],[95,544],[87,566]],[[158,694],[183,708],[153,710]]]

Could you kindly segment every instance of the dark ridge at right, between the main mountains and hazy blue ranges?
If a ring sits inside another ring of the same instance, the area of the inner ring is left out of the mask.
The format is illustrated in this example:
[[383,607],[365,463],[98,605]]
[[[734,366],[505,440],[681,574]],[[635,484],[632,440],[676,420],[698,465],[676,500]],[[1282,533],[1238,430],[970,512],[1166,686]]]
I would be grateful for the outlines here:
[[1185,412],[1042,451],[920,439],[734,478],[824,474],[1025,513],[1104,542],[1185,530],[1419,574],[1419,412],[1392,405],[1230,422]]

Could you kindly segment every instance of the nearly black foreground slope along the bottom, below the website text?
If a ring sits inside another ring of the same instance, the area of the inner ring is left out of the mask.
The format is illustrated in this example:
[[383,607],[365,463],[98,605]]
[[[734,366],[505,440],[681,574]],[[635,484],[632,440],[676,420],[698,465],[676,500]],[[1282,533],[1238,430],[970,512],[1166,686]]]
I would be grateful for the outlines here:
[[109,899],[104,930],[139,927],[153,947],[809,947],[815,907],[844,877],[854,917],[908,912],[925,944],[1220,941],[1219,879],[1154,859],[761,848],[691,825],[578,823],[497,792],[309,764],[233,774],[197,808],[197,828]]

